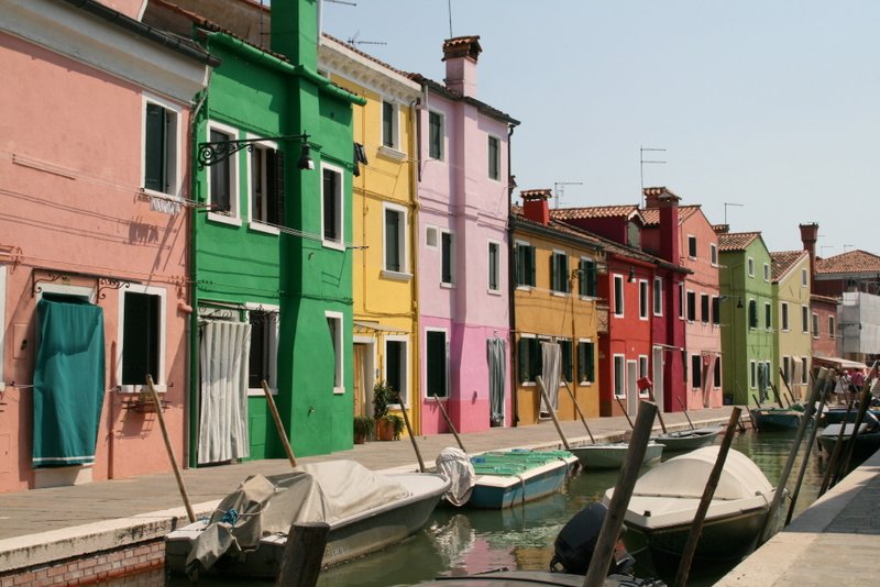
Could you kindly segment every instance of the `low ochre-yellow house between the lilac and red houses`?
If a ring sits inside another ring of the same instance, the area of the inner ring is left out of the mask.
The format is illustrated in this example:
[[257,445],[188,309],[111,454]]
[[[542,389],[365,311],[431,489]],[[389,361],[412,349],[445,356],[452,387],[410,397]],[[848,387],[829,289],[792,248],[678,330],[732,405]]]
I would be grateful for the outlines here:
[[572,394],[584,417],[596,418],[598,332],[607,323],[607,307],[600,306],[597,297],[597,275],[605,270],[604,248],[592,235],[550,220],[549,189],[520,195],[524,207],[515,208],[510,215],[518,423],[534,424],[542,417],[536,377],[541,375],[549,385],[542,348],[548,343],[559,345],[560,383],[548,389],[554,396],[551,401],[557,402],[558,418],[579,419]]

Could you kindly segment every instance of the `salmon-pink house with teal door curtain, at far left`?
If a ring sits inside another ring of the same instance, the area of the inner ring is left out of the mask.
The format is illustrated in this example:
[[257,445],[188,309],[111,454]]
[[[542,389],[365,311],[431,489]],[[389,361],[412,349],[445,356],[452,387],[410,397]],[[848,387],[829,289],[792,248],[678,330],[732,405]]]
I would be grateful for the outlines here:
[[0,491],[169,470],[146,373],[186,458],[188,137],[213,60],[144,4],[0,13]]

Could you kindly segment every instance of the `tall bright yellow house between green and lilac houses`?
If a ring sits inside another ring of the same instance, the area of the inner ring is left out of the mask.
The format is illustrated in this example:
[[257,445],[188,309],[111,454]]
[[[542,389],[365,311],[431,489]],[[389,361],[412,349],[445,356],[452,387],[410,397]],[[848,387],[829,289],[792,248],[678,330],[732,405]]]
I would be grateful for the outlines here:
[[[419,397],[415,108],[421,88],[328,35],[318,62],[334,84],[366,99],[353,113],[353,400],[355,414],[371,416],[378,381],[398,390],[407,406]],[[418,410],[408,413],[413,421]]]

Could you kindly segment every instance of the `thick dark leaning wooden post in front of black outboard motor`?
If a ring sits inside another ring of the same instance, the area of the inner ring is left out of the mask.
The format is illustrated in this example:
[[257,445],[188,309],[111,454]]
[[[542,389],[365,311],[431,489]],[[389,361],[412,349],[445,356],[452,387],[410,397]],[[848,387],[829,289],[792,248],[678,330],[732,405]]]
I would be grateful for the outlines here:
[[593,557],[590,560],[590,567],[584,577],[584,587],[598,587],[605,585],[605,577],[614,556],[614,549],[620,536],[620,528],[624,525],[626,508],[632,497],[632,488],[639,477],[641,463],[645,461],[645,451],[651,440],[651,429],[658,409],[652,402],[640,401],[639,413],[636,417],[636,425],[632,429],[632,438],[626,450],[626,459],[617,476],[617,484],[614,486],[608,511],[602,521],[602,530],[596,539],[596,546],[593,550]]

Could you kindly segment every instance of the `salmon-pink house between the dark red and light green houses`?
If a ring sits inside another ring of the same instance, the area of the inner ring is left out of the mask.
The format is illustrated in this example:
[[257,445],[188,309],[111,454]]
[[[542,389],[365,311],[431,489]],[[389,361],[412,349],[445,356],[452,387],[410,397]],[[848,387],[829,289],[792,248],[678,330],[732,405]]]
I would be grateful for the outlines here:
[[[663,235],[678,235],[678,256],[667,259],[690,270],[676,292],[679,317],[684,321],[684,346],[661,348],[656,357],[668,361],[669,351],[684,358],[685,397],[689,410],[717,408],[722,405],[722,328],[718,292],[718,236],[700,206],[680,206],[680,198],[664,187],[645,188],[645,229],[642,248],[663,251]],[[661,209],[678,211],[678,225],[666,228]],[[674,248],[674,247],[673,247]],[[662,256],[662,255],[661,255]],[[674,410],[680,406],[673,406]]]

